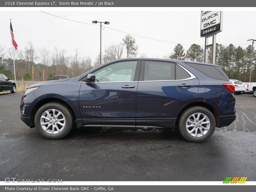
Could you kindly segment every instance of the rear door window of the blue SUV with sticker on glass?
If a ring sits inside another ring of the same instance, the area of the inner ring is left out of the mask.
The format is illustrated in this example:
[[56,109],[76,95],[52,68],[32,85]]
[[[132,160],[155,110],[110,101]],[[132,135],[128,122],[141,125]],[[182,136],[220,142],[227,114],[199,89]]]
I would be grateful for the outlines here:
[[144,81],[172,81],[191,76],[179,65],[161,61],[145,61]]

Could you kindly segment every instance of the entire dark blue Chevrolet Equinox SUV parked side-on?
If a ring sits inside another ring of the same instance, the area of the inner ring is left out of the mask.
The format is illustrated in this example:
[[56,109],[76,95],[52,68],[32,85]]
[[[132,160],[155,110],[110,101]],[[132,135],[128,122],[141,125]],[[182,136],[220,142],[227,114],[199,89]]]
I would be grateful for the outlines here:
[[119,59],[28,87],[21,120],[48,139],[63,138],[74,126],[161,127],[202,142],[236,119],[234,91],[218,65]]

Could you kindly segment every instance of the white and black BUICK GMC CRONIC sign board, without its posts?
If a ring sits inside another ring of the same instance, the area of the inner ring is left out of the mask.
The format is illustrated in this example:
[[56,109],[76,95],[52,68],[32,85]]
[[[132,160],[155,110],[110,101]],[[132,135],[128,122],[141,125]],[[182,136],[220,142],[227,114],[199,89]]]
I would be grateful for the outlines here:
[[201,37],[222,31],[221,11],[201,12]]

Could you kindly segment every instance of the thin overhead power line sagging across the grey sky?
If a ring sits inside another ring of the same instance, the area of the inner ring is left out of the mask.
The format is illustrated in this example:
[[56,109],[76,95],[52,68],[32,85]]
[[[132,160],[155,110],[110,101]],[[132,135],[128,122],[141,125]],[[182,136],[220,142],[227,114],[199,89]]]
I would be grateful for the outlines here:
[[[40,12],[43,12],[43,11],[40,11]],[[76,20],[67,19],[67,18],[64,18],[64,17],[60,17],[60,16],[57,16],[57,15],[53,15],[53,14],[47,13],[47,12],[43,12],[43,13],[51,15],[51,16],[54,16],[54,17],[58,17],[60,19],[65,19],[65,20],[69,20],[69,21],[73,21],[73,22],[77,22],[77,23],[83,23],[83,24],[86,24],[86,25],[93,25],[93,26],[97,25],[97,24],[91,24],[91,23],[85,23],[85,22],[82,22],[82,21],[76,21]],[[121,33],[129,34],[129,35],[132,35],[132,36],[137,36],[137,37],[141,37],[141,38],[145,38],[145,39],[150,39],[150,40],[154,40],[154,41],[160,41],[160,42],[172,43],[172,44],[190,45],[190,46],[192,45],[192,44],[176,43],[176,42],[170,42],[170,41],[164,41],[164,40],[149,38],[149,37],[140,36],[140,35],[128,33],[128,32],[125,32],[125,31],[121,31],[121,30],[118,30],[118,29],[115,29],[115,28],[110,28],[110,27],[107,27],[107,26],[104,26],[104,27],[112,29],[112,30],[115,30],[115,31],[118,31],[118,32],[121,32]],[[243,44],[250,44],[250,43],[242,43],[242,44],[234,44],[234,45],[243,45]],[[204,47],[204,45],[200,45],[200,46]],[[222,45],[222,46],[229,46],[229,45]]]

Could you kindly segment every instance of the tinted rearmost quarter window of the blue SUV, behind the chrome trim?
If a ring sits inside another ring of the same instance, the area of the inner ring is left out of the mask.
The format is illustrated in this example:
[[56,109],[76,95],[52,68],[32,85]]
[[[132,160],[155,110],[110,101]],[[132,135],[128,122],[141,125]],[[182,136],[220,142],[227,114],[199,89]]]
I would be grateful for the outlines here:
[[212,66],[212,65],[203,65],[203,64],[197,64],[197,63],[187,63],[189,66],[197,69],[204,75],[207,75],[209,77],[212,77],[214,79],[220,79],[229,81],[228,76],[222,71],[221,67]]

